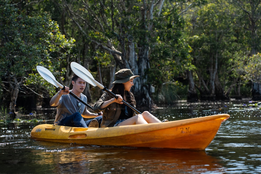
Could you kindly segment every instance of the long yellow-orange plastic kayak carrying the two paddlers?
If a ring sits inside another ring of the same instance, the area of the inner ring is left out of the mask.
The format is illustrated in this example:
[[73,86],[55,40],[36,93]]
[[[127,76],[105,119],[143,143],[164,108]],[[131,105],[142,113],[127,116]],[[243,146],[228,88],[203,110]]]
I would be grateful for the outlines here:
[[221,123],[229,117],[228,114],[218,114],[170,122],[108,128],[76,128],[40,124],[32,129],[31,138],[39,141],[90,145],[202,150],[210,144]]

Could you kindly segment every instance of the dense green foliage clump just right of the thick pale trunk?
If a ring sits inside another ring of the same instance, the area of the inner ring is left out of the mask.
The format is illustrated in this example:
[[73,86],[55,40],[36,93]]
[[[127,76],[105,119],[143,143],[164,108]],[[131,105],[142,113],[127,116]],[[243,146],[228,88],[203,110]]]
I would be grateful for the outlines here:
[[[162,13],[153,21],[155,32],[150,45],[149,81],[157,91],[165,83],[176,83],[176,79],[187,69],[193,69],[191,47],[184,35],[184,18],[178,9],[171,9],[172,2],[163,6]],[[170,10],[171,9],[171,10]],[[156,16],[156,14],[155,14]],[[168,94],[165,95],[167,97]]]

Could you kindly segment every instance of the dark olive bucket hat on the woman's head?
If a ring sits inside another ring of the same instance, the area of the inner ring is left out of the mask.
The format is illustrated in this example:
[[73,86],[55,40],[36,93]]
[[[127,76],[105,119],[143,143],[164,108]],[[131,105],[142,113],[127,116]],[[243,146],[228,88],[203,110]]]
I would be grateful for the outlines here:
[[130,69],[121,69],[117,73],[115,73],[116,80],[112,82],[114,83],[126,83],[127,81],[131,80],[132,78],[139,77],[139,75],[134,75]]

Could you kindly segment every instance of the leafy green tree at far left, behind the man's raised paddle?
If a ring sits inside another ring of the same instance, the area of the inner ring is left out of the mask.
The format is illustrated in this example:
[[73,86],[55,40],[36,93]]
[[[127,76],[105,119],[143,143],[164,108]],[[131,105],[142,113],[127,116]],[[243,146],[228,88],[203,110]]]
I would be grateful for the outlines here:
[[10,93],[11,118],[15,118],[18,93],[35,92],[30,85],[39,85],[39,81],[32,80],[37,78],[33,74],[35,67],[43,65],[58,72],[62,57],[67,56],[74,42],[60,33],[57,23],[48,14],[25,15],[18,8],[20,5],[12,1],[0,2],[0,77],[4,92]]

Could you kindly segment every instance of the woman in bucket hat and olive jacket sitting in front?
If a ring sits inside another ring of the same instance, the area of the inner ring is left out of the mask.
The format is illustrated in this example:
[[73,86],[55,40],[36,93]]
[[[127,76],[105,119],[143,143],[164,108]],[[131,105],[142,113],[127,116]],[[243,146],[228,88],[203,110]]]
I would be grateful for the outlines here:
[[[130,91],[134,85],[133,79],[139,77],[139,75],[134,75],[130,69],[121,69],[115,73],[115,77],[116,81],[112,83],[111,91],[118,96],[118,99],[104,92],[102,97],[93,105],[94,112],[103,111],[101,127],[161,122],[148,111],[136,115],[130,107],[122,102],[122,100],[125,100],[133,107],[136,107],[134,95]],[[165,119],[164,121],[168,120]]]

